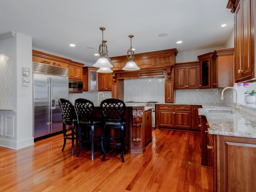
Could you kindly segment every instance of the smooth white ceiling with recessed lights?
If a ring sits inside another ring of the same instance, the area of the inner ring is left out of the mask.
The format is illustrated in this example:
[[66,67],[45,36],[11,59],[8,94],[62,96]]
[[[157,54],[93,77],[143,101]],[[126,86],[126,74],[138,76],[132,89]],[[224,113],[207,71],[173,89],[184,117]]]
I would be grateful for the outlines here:
[[[1,0],[0,34],[30,36],[36,50],[92,65],[102,42],[100,27],[106,28],[110,57],[126,55],[130,34],[135,54],[224,46],[234,29],[227,4],[228,0]],[[168,36],[159,37],[162,33]],[[176,44],[178,40],[183,43]]]

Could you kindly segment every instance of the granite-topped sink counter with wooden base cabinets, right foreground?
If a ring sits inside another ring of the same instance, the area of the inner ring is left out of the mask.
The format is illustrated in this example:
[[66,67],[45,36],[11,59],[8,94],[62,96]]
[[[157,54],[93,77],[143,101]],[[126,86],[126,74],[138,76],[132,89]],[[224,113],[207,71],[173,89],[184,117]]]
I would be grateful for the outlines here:
[[[245,112],[236,113],[234,108],[227,106],[202,104],[202,107],[199,109],[202,163],[209,167],[211,190],[254,191],[256,116]],[[232,113],[226,113],[228,110]]]

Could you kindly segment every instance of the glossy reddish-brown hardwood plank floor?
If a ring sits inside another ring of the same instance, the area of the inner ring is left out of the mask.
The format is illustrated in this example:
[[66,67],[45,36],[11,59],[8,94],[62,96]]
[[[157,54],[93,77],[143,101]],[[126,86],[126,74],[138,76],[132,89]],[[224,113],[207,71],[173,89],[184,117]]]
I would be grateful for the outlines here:
[[152,130],[144,154],[113,152],[101,162],[100,149],[78,147],[71,141],[64,152],[62,134],[12,150],[0,147],[0,191],[86,192],[208,192],[207,169],[200,166],[200,133]]

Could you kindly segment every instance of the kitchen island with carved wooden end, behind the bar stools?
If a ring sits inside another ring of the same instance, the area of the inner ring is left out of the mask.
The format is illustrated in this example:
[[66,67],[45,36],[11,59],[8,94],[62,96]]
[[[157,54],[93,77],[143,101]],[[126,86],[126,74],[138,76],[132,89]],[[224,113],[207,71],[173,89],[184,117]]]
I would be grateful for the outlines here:
[[[126,124],[125,145],[130,154],[143,154],[145,146],[152,141],[151,109],[145,104],[125,103]],[[94,102],[95,117],[102,118],[100,103]]]

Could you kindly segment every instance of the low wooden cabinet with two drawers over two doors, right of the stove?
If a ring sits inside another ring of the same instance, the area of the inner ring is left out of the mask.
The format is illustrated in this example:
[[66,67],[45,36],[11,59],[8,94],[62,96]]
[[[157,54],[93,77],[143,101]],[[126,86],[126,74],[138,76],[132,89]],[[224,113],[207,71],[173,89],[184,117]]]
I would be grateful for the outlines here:
[[191,128],[190,105],[156,105],[156,128]]

